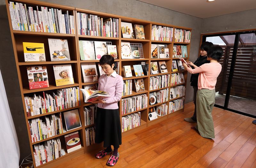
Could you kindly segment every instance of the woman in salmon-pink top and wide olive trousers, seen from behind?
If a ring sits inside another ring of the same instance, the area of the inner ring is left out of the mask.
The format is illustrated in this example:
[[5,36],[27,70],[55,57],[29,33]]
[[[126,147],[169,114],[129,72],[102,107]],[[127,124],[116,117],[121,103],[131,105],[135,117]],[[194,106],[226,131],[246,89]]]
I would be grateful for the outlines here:
[[183,63],[184,68],[189,73],[200,73],[198,91],[196,93],[197,126],[192,127],[192,129],[198,130],[200,135],[205,138],[215,138],[212,108],[215,103],[215,85],[221,71],[221,64],[218,61],[222,55],[223,49],[220,46],[215,46],[207,52],[207,60],[210,63],[197,67],[192,62],[188,62],[188,65],[193,66],[195,69],[191,69]]

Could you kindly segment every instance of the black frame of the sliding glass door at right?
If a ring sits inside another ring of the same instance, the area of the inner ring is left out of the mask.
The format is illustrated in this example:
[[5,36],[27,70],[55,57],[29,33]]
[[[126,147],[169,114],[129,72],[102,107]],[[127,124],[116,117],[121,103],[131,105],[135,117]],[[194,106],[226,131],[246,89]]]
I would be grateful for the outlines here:
[[224,110],[228,110],[228,111],[239,113],[239,114],[242,114],[242,115],[245,115],[245,116],[256,118],[255,115],[244,113],[244,112],[241,112],[241,111],[237,111],[237,110],[228,108],[228,103],[229,103],[232,79],[233,79],[233,75],[234,75],[234,69],[235,69],[235,63],[236,63],[236,55],[237,55],[237,49],[238,49],[240,34],[248,34],[248,33],[255,33],[256,34],[256,30],[234,31],[234,32],[226,32],[226,33],[222,32],[222,33],[212,33],[212,34],[201,34],[201,44],[202,44],[202,42],[206,41],[206,37],[235,35],[234,49],[233,49],[233,54],[232,54],[232,59],[231,59],[229,76],[228,76],[228,84],[227,84],[227,91],[226,91],[226,96],[225,96],[225,103],[224,103],[224,106],[220,106],[220,105],[216,105],[216,104],[214,106],[218,107],[218,108],[222,108]]

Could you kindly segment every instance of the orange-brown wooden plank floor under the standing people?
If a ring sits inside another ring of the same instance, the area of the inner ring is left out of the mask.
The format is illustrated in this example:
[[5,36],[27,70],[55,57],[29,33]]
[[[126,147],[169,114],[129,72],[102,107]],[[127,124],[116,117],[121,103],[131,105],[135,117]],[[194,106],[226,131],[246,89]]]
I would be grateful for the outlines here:
[[[214,107],[215,138],[212,140],[201,137],[190,128],[196,123],[184,121],[185,117],[192,116],[194,104],[190,102],[185,107],[183,113],[123,137],[115,167],[256,167],[256,124],[252,123],[253,118]],[[58,168],[108,167],[109,156],[96,159],[95,152],[74,158]]]

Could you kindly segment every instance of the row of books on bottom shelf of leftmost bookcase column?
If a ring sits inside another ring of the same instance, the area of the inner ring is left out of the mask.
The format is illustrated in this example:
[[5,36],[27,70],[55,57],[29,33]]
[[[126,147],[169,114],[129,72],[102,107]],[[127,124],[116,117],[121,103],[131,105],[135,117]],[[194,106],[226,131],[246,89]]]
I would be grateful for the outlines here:
[[36,166],[40,166],[66,154],[65,151],[62,150],[60,138],[54,138],[40,144],[35,144],[33,150]]

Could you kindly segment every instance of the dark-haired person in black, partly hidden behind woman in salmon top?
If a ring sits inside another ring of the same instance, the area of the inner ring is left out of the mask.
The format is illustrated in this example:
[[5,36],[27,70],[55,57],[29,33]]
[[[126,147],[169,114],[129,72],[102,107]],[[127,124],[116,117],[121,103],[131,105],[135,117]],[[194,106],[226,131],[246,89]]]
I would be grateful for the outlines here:
[[[196,59],[196,61],[194,62],[194,64],[196,66],[201,66],[205,63],[210,63],[210,61],[207,60],[207,51],[209,51],[210,48],[213,47],[213,44],[212,42],[203,42],[202,45],[200,46],[200,56]],[[194,69],[194,67],[192,66],[192,62],[188,62],[188,65],[191,66],[192,69]],[[193,114],[192,117],[190,118],[184,118],[185,121],[188,121],[188,122],[196,122],[196,92],[198,90],[198,76],[199,76],[199,73],[198,74],[191,74],[191,77],[190,77],[190,85],[193,86],[193,89],[194,89],[194,104],[195,104],[195,112]]]

